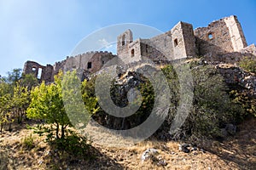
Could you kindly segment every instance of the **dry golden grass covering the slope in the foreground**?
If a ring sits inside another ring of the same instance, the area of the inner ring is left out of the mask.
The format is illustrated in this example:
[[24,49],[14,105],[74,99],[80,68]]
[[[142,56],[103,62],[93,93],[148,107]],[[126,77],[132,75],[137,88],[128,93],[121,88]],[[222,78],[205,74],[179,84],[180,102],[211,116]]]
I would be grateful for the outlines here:
[[[32,133],[23,126],[13,132],[0,134],[0,169],[255,169],[256,168],[256,120],[242,124],[240,132],[224,143],[214,142],[208,151],[189,154],[178,150],[177,142],[143,141],[127,143],[120,136],[108,139],[111,133],[100,132],[99,127],[90,125],[88,131],[94,140],[90,150],[93,160],[72,157],[55,151],[44,143],[44,137],[32,134],[33,148],[26,148],[23,139]],[[115,145],[119,140],[120,145]],[[124,140],[124,141],[122,141]],[[104,144],[104,141],[113,144]],[[148,148],[159,150],[166,160],[165,167],[154,161],[141,161],[143,151]]]

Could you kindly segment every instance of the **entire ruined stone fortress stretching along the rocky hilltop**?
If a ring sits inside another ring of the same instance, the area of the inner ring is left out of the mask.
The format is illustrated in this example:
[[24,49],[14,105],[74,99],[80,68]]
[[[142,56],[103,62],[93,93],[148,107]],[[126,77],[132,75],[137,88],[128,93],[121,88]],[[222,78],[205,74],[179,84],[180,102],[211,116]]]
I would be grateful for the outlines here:
[[189,23],[178,22],[170,31],[149,39],[133,40],[132,31],[127,30],[117,37],[117,55],[105,52],[87,52],[67,57],[55,65],[40,65],[26,61],[23,74],[32,73],[40,81],[53,82],[60,70],[78,69],[93,73],[115,57],[125,63],[136,63],[151,59],[156,64],[167,61],[204,56],[209,61],[236,63],[244,56],[256,56],[255,45],[247,46],[241,24],[235,15],[213,21],[207,27],[195,30]]

